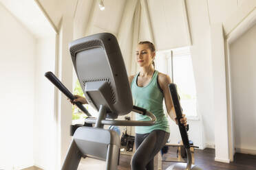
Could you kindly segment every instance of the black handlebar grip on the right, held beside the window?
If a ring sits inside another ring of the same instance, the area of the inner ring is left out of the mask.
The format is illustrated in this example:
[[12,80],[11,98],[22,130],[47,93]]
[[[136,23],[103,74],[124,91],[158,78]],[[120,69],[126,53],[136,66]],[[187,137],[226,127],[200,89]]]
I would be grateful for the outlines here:
[[186,127],[180,123],[180,119],[182,119],[182,109],[180,107],[180,101],[178,98],[178,92],[177,92],[177,88],[176,88],[176,84],[169,84],[169,90],[171,93],[171,98],[173,99],[173,105],[175,108],[175,113],[176,113],[176,117],[178,120],[178,126],[180,129],[180,135],[182,136],[182,142],[185,148],[189,149],[190,145],[189,145],[189,136],[186,132]]

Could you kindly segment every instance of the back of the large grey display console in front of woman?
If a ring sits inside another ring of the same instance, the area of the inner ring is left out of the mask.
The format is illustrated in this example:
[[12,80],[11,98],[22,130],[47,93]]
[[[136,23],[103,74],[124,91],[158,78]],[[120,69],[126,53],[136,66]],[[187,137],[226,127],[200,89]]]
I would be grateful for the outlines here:
[[85,98],[92,107],[99,110],[100,104],[106,106],[107,118],[131,112],[131,89],[114,35],[95,34],[75,40],[70,43],[70,54]]

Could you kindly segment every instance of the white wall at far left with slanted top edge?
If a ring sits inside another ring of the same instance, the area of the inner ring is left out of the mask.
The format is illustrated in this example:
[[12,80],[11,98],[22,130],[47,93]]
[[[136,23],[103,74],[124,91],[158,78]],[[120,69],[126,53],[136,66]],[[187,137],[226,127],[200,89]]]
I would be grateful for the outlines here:
[[33,165],[35,39],[0,3],[0,169]]

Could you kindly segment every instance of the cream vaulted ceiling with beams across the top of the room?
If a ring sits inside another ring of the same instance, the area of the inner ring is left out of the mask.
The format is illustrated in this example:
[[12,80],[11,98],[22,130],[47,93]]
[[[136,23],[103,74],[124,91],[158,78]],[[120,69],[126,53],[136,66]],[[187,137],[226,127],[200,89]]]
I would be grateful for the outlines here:
[[[41,4],[42,9],[36,2]],[[208,10],[211,24],[233,14],[245,0],[205,2],[206,6],[202,9]],[[134,32],[134,21],[139,17],[138,40],[153,40],[158,49],[191,45],[189,22],[193,21],[186,18],[186,3],[197,5],[197,2],[191,3],[190,0],[104,0],[105,10],[101,11],[99,0],[0,0],[0,3],[36,37],[47,36],[53,31],[52,25],[58,29],[65,12],[74,13],[74,38],[98,32],[111,32],[118,36],[122,32],[120,29],[125,28]],[[75,8],[70,4],[76,4]],[[136,4],[136,8],[132,4]],[[42,10],[49,16],[52,25]],[[127,11],[129,14],[124,14]],[[124,16],[132,16],[132,22],[124,24],[123,21],[127,20]]]

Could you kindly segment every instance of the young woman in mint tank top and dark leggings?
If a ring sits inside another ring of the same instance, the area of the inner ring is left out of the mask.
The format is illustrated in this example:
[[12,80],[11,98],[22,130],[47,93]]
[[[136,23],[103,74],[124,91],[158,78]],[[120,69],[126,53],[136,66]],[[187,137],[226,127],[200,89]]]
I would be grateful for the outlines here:
[[[171,78],[155,70],[153,62],[155,56],[156,49],[153,43],[149,41],[138,43],[136,61],[140,66],[140,72],[129,77],[134,106],[149,110],[155,114],[157,121],[155,125],[136,127],[136,152],[131,159],[132,170],[153,170],[154,156],[156,156],[158,151],[167,143],[170,130],[167,117],[164,115],[163,99],[169,116],[178,124],[175,119],[175,110],[168,88],[168,84],[171,83]],[[75,95],[75,97],[77,99],[74,101],[87,104],[84,97],[78,95]],[[136,114],[136,121],[146,120],[149,120],[149,117]],[[186,117],[184,114],[181,123],[186,125]]]

